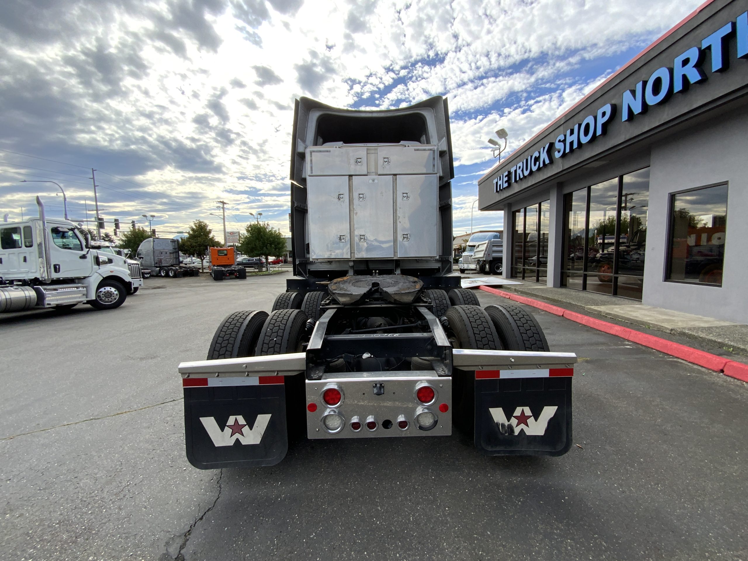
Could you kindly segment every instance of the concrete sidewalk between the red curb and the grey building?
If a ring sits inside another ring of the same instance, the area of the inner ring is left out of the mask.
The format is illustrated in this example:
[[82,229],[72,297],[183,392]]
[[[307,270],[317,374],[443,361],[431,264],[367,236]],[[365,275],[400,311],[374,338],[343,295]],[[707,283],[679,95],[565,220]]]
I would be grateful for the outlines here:
[[648,306],[636,300],[598,292],[548,288],[541,283],[521,282],[521,285],[501,286],[501,289],[557,304],[571,304],[601,316],[680,335],[729,352],[748,355],[748,325],[666,310]]

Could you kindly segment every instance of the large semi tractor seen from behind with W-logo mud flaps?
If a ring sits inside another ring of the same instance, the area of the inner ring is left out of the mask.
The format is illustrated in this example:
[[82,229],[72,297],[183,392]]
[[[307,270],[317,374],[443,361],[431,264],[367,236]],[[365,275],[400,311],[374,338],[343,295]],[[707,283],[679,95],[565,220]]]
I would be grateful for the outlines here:
[[573,353],[452,273],[447,99],[387,111],[296,101],[294,277],[179,365],[197,468],[275,465],[289,437],[434,438],[488,455],[571,446]]

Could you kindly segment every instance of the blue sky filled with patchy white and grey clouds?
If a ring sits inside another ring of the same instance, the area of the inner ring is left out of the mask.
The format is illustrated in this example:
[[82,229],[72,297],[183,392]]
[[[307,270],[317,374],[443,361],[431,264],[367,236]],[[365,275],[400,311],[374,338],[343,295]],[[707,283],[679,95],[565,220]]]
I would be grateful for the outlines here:
[[[3,0],[0,215],[250,212],[288,233],[293,102],[450,102],[456,234],[499,127],[519,147],[701,0]],[[476,205],[477,206],[477,205]],[[111,222],[107,230],[111,230]],[[475,213],[474,229],[501,227]]]

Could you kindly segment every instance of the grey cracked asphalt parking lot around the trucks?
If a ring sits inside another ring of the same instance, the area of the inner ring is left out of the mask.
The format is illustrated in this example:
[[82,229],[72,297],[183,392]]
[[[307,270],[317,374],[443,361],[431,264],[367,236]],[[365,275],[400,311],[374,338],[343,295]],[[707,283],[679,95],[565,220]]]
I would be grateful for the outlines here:
[[0,316],[0,557],[748,558],[747,385],[539,310],[551,349],[580,357],[565,456],[482,456],[455,433],[192,468],[177,364],[289,275],[151,278],[117,310]]

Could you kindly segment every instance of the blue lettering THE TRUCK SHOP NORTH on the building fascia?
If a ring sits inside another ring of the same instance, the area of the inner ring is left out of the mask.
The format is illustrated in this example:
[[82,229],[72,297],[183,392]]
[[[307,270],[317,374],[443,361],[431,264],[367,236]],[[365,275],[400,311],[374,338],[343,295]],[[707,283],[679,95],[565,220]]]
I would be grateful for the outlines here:
[[[748,11],[741,13],[734,22],[728,22],[701,41],[700,46],[692,46],[675,57],[672,67],[654,70],[648,80],[642,80],[621,96],[621,121],[630,122],[637,115],[646,113],[647,108],[667,102],[673,93],[686,93],[690,85],[700,84],[707,79],[702,66],[708,61],[711,72],[723,72],[729,67],[727,42],[736,36],[735,49],[738,58],[748,58]],[[710,55],[707,57],[707,53]],[[558,135],[556,141],[548,142],[533,153],[528,154],[516,165],[494,178],[494,192],[527,179],[533,172],[554,164],[554,159],[563,158],[574,150],[592,142],[607,132],[607,124],[616,117],[618,105],[606,103],[594,114],[590,114],[573,128]],[[552,145],[552,149],[551,149]]]

